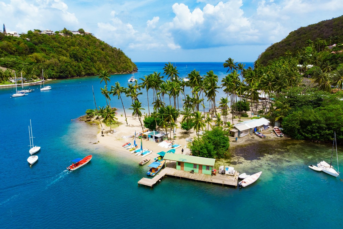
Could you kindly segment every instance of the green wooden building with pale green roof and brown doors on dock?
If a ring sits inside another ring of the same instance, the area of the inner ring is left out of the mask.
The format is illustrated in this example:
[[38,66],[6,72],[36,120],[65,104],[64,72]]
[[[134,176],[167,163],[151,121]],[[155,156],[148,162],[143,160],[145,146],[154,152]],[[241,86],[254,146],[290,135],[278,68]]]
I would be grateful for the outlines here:
[[166,153],[165,160],[176,161],[176,169],[211,175],[215,159],[189,156],[184,154]]

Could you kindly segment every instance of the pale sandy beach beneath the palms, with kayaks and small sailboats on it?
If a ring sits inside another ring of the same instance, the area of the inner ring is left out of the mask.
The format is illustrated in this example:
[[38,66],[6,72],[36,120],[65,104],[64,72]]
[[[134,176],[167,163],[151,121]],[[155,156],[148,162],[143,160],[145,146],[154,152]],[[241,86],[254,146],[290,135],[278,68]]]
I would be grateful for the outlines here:
[[[256,116],[256,115],[253,115]],[[134,137],[131,138],[122,138],[123,136],[129,136],[129,135],[134,135],[134,133],[136,132],[136,134],[138,134],[139,132],[142,131],[142,127],[141,124],[139,122],[139,119],[136,117],[132,117],[132,116],[127,116],[127,121],[128,121],[128,125],[125,122],[125,116],[121,116],[120,114],[118,116],[116,116],[118,118],[118,122],[121,123],[119,124],[118,127],[116,128],[112,128],[112,132],[110,131],[110,128],[105,126],[104,124],[102,124],[103,128],[104,128],[104,136],[102,136],[101,134],[101,126],[99,125],[99,132],[97,134],[97,141],[99,144],[102,144],[110,149],[116,150],[118,152],[121,152],[123,154],[127,154],[127,155],[131,155],[132,156],[132,160],[135,161],[141,161],[143,160],[141,156],[135,156],[134,153],[131,154],[131,152],[133,151],[129,151],[126,148],[123,148],[122,145],[125,144],[126,142],[131,142],[131,144],[133,144],[134,141]],[[229,119],[230,115],[228,115],[228,121],[230,120],[232,122],[232,119]],[[144,117],[142,117],[143,119]],[[249,120],[249,118],[241,118],[243,121],[245,120]],[[188,134],[185,130],[180,128],[180,121],[182,120],[182,115],[180,115],[180,117],[177,120],[177,124],[178,127],[176,128],[176,132],[175,132],[175,144],[181,144],[181,147],[177,148],[175,153],[181,154],[181,150],[182,148],[184,149],[184,154],[189,155],[190,149],[186,146],[187,142],[186,138],[197,138],[197,134],[196,132],[192,129],[190,130],[190,133]],[[142,121],[143,122],[143,121]],[[234,124],[239,123],[238,118],[234,119]],[[212,124],[214,125],[214,121],[212,122]],[[206,125],[207,127],[207,125]],[[144,128],[144,126],[143,126]],[[211,129],[211,126],[210,126]],[[144,128],[144,130],[146,130],[146,128]],[[163,130],[162,130],[163,131]],[[149,133],[149,132],[147,132]],[[282,140],[282,139],[286,139],[286,137],[280,138],[277,137],[272,128],[269,128],[267,130],[262,131],[262,134],[266,135],[267,138],[259,138],[256,135],[247,135],[245,137],[242,138],[238,138],[238,142],[235,141],[235,138],[230,137],[230,148],[233,147],[237,147],[237,146],[246,146],[249,144],[253,144],[255,142],[258,141],[268,141],[268,140]],[[170,137],[170,134],[168,135]],[[171,137],[173,138],[173,133],[171,133]],[[136,138],[136,144],[138,145],[138,148],[140,148],[140,139]],[[158,146],[158,143],[156,142],[152,142],[152,141],[148,141],[146,139],[142,140],[142,145],[143,145],[143,149],[147,148],[152,150],[152,153],[148,156],[146,156],[145,158],[156,158],[157,157],[157,153],[161,152],[161,151],[168,151],[171,148],[164,148],[161,146]]]

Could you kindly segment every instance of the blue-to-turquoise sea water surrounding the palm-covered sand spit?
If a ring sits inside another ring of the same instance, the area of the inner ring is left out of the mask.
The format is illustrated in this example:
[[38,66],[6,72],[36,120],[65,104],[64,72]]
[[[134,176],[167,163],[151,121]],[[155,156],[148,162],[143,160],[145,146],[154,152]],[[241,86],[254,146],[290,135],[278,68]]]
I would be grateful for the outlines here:
[[[163,73],[165,63],[136,64],[135,78],[141,78]],[[181,77],[193,69],[201,75],[213,70],[220,79],[226,75],[222,63],[173,64]],[[114,75],[109,85],[119,81],[125,87],[131,76]],[[241,173],[262,171],[250,186],[168,177],[150,189],[137,184],[147,167],[93,144],[99,129],[77,120],[95,108],[92,85],[97,105],[106,105],[100,93],[104,83],[94,76],[46,84],[52,90],[35,86],[35,92],[19,98],[10,97],[15,88],[0,89],[0,228],[343,228],[343,182],[308,168],[330,161],[331,145],[262,139],[233,149],[227,160]],[[130,101],[124,99],[126,108]],[[112,98],[111,106],[121,103]],[[32,167],[26,161],[30,119],[34,144],[42,147]],[[70,160],[89,154],[90,163],[66,170]],[[343,169],[342,147],[339,164]]]

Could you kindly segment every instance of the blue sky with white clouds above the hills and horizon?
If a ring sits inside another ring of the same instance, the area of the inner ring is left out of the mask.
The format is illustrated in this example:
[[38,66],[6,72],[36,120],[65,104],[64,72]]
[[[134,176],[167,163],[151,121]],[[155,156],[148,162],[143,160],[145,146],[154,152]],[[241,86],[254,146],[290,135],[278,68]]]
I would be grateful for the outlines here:
[[7,32],[83,28],[134,62],[253,62],[297,28],[341,16],[343,1],[0,0],[0,9]]

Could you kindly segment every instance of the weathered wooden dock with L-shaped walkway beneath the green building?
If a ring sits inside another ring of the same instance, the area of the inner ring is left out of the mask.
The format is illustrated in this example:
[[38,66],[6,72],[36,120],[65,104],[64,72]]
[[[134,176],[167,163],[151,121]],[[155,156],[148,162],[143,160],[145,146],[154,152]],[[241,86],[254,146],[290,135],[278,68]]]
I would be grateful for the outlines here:
[[167,165],[167,168],[162,169],[156,176],[152,179],[150,178],[142,178],[138,181],[138,185],[143,184],[149,187],[154,187],[154,185],[161,181],[165,175],[175,176],[176,178],[187,178],[195,181],[204,181],[206,183],[215,183],[215,184],[222,184],[222,185],[238,185],[238,175],[239,173],[236,171],[234,175],[207,175],[201,173],[191,173],[183,170],[177,170],[176,163],[171,162]]

